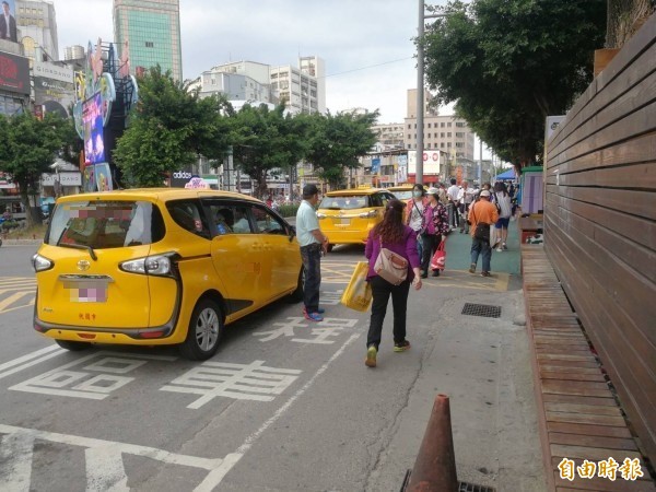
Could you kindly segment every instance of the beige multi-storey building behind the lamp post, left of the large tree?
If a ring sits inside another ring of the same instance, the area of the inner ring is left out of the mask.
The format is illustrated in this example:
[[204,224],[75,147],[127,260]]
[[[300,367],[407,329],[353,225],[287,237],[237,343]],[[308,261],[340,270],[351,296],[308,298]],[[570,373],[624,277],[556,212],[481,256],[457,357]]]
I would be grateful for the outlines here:
[[[427,91],[426,91],[427,92]],[[457,116],[441,116],[431,107],[430,95],[424,102],[424,150],[445,152],[450,159],[473,161],[473,132],[467,121]],[[417,90],[408,90],[408,113],[405,120],[407,150],[417,149]]]

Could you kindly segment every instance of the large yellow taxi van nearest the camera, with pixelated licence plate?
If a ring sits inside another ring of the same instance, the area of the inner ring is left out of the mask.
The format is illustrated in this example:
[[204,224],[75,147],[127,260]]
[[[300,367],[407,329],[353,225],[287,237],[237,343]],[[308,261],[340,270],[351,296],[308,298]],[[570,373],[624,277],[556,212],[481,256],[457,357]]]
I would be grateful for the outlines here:
[[303,297],[295,230],[254,198],[131,189],[60,198],[32,259],[34,328],[69,350],[179,344],[211,358],[224,326]]

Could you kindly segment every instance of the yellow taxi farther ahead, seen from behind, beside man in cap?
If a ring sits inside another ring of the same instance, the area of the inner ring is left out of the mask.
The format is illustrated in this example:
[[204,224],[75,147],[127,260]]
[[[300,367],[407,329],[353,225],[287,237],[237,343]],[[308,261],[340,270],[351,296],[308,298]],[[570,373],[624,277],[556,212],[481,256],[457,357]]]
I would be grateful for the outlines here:
[[385,206],[394,195],[385,189],[355,188],[328,191],[319,202],[319,227],[328,237],[328,250],[336,244],[364,244],[370,231],[383,220]]

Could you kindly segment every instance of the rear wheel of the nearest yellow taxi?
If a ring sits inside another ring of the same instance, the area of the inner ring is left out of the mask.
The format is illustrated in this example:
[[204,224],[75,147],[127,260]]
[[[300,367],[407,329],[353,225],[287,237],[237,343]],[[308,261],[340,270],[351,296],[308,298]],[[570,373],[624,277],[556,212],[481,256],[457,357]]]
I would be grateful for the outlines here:
[[209,298],[201,300],[189,320],[187,339],[180,345],[180,353],[191,361],[210,359],[219,348],[223,333],[223,315],[219,305]]

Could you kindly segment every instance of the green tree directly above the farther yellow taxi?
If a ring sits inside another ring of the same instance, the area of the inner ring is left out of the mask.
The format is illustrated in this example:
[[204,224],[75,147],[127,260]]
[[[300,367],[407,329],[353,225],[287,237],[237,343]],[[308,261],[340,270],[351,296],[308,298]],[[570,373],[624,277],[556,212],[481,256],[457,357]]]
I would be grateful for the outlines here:
[[359,157],[365,155],[376,143],[372,125],[378,112],[355,115],[312,115],[309,150],[306,160],[314,165],[319,178],[332,188],[344,186],[344,169],[356,169]]

